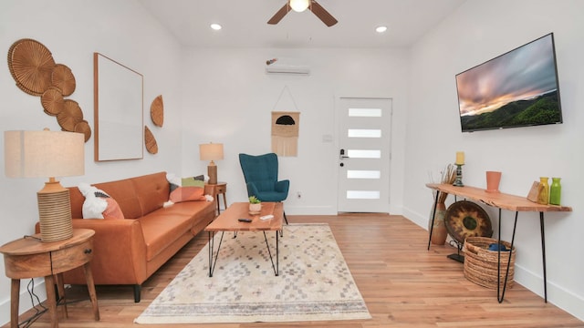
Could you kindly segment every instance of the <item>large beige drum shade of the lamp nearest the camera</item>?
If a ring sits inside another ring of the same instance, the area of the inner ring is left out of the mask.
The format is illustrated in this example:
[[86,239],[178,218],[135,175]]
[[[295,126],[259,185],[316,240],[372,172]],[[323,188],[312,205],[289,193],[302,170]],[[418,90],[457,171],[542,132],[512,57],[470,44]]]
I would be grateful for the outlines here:
[[5,131],[5,175],[49,178],[83,175],[83,134],[64,131]]

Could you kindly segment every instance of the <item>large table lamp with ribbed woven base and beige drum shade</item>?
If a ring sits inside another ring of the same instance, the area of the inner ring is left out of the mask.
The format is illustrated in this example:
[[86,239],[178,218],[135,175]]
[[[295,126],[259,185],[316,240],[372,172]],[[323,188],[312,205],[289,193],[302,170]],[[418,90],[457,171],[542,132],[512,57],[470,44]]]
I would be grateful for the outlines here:
[[5,175],[8,178],[48,178],[36,193],[41,241],[73,236],[69,190],[55,177],[82,175],[85,137],[64,131],[5,131]]

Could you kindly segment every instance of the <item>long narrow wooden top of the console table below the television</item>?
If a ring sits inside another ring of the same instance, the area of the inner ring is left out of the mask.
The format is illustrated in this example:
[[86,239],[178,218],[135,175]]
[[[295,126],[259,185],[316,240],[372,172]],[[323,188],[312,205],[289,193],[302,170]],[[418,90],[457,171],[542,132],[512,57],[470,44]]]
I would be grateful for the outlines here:
[[514,211],[571,211],[572,208],[561,205],[542,205],[537,204],[527,197],[510,195],[503,192],[486,192],[484,189],[475,187],[456,187],[451,184],[444,183],[428,183],[426,187],[446,192],[448,194],[457,195],[470,200],[476,200],[485,203],[486,205],[494,206],[504,210]]

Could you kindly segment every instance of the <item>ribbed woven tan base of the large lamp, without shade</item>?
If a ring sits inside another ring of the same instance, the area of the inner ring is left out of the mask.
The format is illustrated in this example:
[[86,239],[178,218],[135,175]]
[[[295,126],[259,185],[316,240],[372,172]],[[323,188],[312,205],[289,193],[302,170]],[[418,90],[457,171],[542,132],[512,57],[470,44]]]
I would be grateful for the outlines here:
[[36,193],[41,241],[64,241],[73,237],[69,190],[63,188],[58,181],[58,186],[48,186],[47,190],[49,183],[47,182],[45,189]]

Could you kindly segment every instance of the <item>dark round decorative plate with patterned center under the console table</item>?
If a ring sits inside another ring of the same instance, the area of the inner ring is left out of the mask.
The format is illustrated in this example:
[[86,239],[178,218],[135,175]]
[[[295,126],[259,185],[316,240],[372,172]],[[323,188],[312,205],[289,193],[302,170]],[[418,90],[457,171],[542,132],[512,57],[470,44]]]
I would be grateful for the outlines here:
[[463,243],[467,237],[491,237],[491,219],[485,210],[468,200],[454,202],[444,214],[446,231],[455,241]]

